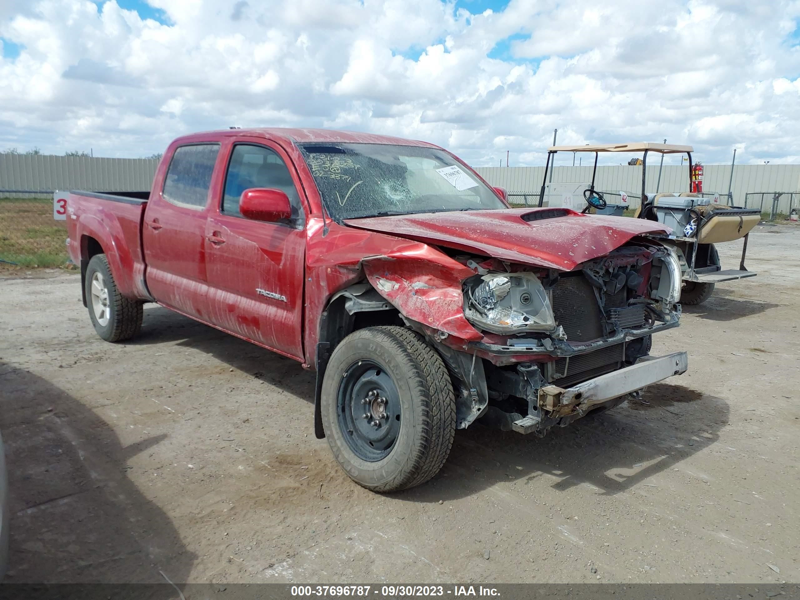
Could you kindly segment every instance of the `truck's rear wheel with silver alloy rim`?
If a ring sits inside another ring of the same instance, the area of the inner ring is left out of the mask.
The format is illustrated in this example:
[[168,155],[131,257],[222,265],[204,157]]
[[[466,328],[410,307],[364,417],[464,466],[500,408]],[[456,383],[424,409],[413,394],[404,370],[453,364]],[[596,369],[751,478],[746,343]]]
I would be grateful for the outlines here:
[[142,328],[142,302],[119,293],[105,254],[95,254],[86,267],[86,306],[94,330],[106,342],[133,338]]

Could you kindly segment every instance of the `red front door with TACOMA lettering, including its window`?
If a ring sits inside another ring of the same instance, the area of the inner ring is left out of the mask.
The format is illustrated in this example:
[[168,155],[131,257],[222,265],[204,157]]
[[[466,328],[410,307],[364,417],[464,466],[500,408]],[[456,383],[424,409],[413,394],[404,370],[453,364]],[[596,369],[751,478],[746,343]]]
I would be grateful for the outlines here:
[[[263,138],[240,138],[226,154],[222,194],[206,224],[214,322],[302,360],[306,201],[298,174],[282,148]],[[254,187],[286,192],[292,218],[259,222],[242,217],[239,198]]]

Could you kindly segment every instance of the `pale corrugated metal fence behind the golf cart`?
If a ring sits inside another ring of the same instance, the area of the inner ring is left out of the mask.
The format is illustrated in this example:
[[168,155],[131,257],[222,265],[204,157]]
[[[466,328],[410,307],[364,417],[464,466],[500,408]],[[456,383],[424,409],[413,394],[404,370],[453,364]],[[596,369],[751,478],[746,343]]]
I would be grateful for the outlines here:
[[[571,158],[571,157],[570,157]],[[543,166],[481,166],[475,170],[493,186],[502,186],[509,192],[534,194],[538,202],[539,189],[545,172]],[[728,193],[730,182],[730,165],[704,165],[703,191],[719,192],[721,196]],[[658,182],[658,158],[649,163],[646,169],[647,192],[656,190]],[[547,176],[550,179],[550,174]],[[591,166],[556,166],[553,172],[554,183],[590,182]],[[639,194],[642,192],[642,167],[629,165],[598,166],[594,189],[609,191],[625,191],[629,194],[631,207],[639,205]],[[800,190],[800,165],[737,165],[734,167],[734,181],[731,193],[736,206],[744,206],[745,194],[750,192],[773,193],[775,191],[792,192]],[[664,166],[658,191],[689,191],[688,166]],[[531,196],[528,196],[529,202]],[[609,198],[611,202],[611,199]],[[784,194],[778,202],[778,212],[788,213],[789,194]],[[756,206],[752,206],[755,208]]]

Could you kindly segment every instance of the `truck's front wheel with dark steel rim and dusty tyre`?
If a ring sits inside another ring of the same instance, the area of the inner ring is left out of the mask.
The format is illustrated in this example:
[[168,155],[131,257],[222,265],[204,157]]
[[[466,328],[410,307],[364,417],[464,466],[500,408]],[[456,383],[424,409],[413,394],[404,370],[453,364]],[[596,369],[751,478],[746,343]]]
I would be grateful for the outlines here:
[[442,358],[403,327],[369,327],[336,346],[322,381],[322,424],[334,458],[376,492],[426,482],[455,434],[455,399]]

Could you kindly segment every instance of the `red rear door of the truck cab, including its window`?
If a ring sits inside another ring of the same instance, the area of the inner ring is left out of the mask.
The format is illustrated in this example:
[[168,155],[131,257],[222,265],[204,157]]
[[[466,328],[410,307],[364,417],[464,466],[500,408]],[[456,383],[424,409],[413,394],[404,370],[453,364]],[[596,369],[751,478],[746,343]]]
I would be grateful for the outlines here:
[[142,226],[150,293],[158,302],[205,321],[206,221],[219,154],[218,142],[178,146],[162,189],[151,194]]

